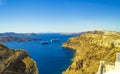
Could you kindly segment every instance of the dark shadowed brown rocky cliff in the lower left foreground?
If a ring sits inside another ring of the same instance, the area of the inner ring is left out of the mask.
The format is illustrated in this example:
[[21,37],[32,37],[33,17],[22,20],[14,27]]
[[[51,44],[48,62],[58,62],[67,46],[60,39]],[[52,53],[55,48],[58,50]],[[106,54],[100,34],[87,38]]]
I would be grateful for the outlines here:
[[38,74],[38,69],[26,51],[0,44],[0,74]]

